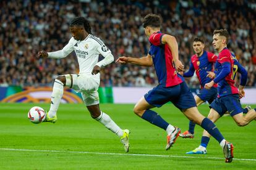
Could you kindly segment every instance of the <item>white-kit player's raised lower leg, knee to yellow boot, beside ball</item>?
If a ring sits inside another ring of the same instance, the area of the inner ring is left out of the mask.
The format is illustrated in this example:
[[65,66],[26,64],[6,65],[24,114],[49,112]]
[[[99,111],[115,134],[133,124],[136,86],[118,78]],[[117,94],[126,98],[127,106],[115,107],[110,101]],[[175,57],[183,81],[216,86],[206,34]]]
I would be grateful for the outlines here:
[[64,86],[66,83],[65,76],[58,76],[53,84],[53,92],[51,94],[51,108],[46,113],[46,122],[56,123],[57,115],[56,112],[59,108],[59,103],[61,103],[61,98],[64,92]]

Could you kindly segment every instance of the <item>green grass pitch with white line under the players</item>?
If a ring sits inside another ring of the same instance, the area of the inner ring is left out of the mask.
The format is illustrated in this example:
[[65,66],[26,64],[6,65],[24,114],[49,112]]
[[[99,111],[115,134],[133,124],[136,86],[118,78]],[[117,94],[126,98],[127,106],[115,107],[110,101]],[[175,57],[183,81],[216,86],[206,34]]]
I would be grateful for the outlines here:
[[[164,150],[166,132],[133,113],[134,105],[101,104],[101,110],[122,128],[130,129],[130,151],[124,153],[119,138],[93,120],[82,104],[61,104],[58,122],[32,124],[28,110],[48,104],[0,103],[0,169],[255,169],[256,122],[238,127],[230,116],[216,123],[223,136],[234,144],[234,160],[224,163],[215,139],[207,155],[186,155],[198,147],[202,128],[194,139],[178,138]],[[256,107],[256,105],[252,105]],[[188,119],[172,104],[155,108],[166,121],[182,131]],[[199,110],[208,115],[208,105]]]

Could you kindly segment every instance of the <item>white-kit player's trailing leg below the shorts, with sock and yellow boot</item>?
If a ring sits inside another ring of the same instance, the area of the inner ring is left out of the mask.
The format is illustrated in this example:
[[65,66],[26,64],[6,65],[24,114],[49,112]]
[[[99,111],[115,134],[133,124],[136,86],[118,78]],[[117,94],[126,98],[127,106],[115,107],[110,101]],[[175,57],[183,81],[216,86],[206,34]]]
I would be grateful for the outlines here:
[[87,106],[88,111],[90,112],[93,119],[99,121],[103,124],[107,129],[114,132],[117,136],[121,138],[121,143],[124,144],[125,152],[129,152],[129,134],[130,131],[128,129],[122,130],[116,123],[103,111],[100,110],[100,105],[90,105]]

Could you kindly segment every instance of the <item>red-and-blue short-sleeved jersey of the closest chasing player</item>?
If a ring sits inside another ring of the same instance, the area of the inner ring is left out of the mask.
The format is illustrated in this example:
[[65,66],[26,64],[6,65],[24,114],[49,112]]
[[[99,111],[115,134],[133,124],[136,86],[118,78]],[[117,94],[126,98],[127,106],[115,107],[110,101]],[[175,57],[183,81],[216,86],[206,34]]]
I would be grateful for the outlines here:
[[164,34],[160,31],[151,34],[150,38],[150,51],[158,77],[158,83],[163,84],[165,87],[176,86],[184,81],[181,75],[178,75],[173,66],[173,55],[169,49],[168,44],[162,44],[161,38]]

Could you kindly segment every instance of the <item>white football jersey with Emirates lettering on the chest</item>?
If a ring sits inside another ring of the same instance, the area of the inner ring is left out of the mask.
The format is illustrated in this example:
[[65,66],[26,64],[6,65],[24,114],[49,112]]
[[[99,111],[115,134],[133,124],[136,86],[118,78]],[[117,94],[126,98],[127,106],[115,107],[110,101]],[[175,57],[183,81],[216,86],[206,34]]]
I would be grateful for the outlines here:
[[79,74],[92,75],[93,67],[98,63],[99,55],[105,57],[111,51],[100,38],[93,34],[88,34],[83,41],[77,41],[74,37],[70,38],[69,43],[62,49],[65,53],[75,51],[79,62]]

